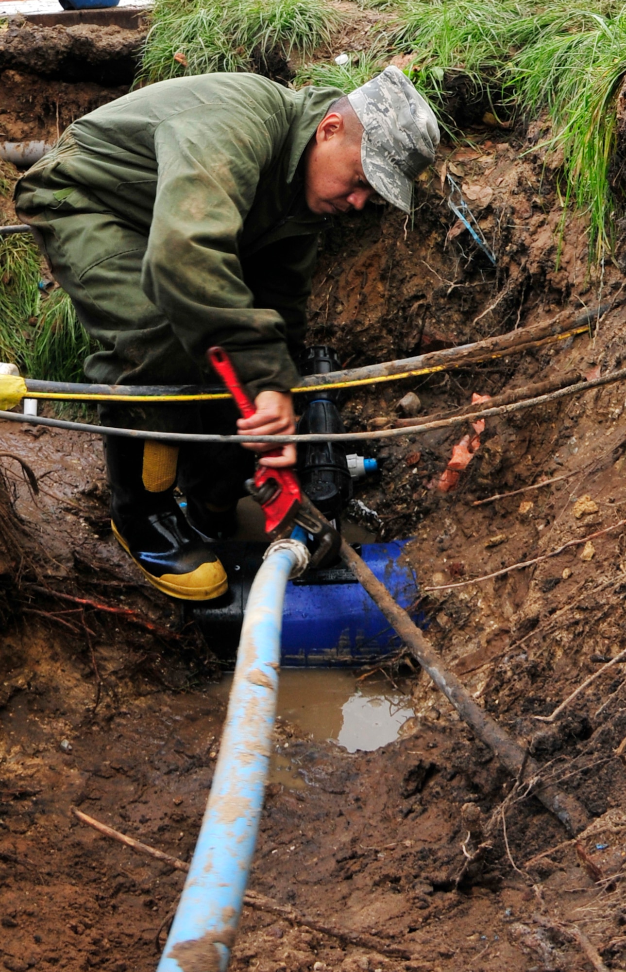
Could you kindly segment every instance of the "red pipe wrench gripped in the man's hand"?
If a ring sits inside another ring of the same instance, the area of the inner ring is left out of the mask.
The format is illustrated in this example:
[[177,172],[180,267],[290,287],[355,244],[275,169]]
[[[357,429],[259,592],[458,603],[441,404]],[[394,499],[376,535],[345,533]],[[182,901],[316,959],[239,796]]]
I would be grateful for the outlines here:
[[[226,385],[243,417],[247,419],[254,415],[257,411],[255,404],[241,385],[224,348],[209,348],[207,358]],[[277,456],[279,452],[279,449],[273,449],[264,455]],[[261,503],[265,514],[265,533],[269,538],[286,536],[297,523],[318,540],[317,549],[311,557],[311,567],[319,567],[323,561],[329,562],[336,558],[341,537],[330,524],[316,515],[308,497],[302,493],[296,473],[292,469],[258,466],[254,479],[249,479],[246,486],[257,503]]]

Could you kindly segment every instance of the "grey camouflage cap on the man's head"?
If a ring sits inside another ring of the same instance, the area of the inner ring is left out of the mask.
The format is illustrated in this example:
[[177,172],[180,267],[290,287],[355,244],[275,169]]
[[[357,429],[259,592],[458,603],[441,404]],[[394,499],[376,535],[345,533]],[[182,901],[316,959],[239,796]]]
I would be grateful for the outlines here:
[[361,161],[367,182],[410,213],[413,181],[434,161],[439,144],[432,108],[394,66],[358,87],[348,100],[364,127]]

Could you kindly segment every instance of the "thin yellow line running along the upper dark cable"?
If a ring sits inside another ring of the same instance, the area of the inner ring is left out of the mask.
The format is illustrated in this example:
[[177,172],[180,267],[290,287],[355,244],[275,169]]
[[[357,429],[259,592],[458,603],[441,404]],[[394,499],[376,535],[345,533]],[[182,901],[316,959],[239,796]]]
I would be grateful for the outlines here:
[[[551,334],[549,337],[544,337],[539,341],[533,341],[531,343],[535,344],[536,347],[540,347],[543,344],[549,344],[553,341],[563,341],[568,337],[573,337],[575,334],[582,334],[585,331],[587,333],[589,332],[589,325],[587,324],[581,325],[573,330],[564,330],[560,334]],[[494,351],[492,354],[471,361],[469,364],[481,364],[483,362],[497,360],[498,358],[506,358],[508,355],[514,354],[514,352],[514,348],[504,349],[504,351]],[[304,385],[293,388],[292,393],[294,395],[305,392],[310,394],[311,392],[326,392],[336,388],[357,388],[360,385],[379,385],[385,381],[400,381],[402,378],[417,378],[424,374],[436,374],[438,371],[447,371],[455,367],[462,367],[463,364],[464,362],[460,362],[459,364],[455,364],[454,362],[450,362],[449,364],[434,364],[431,367],[411,368],[408,371],[401,371],[398,374],[381,374],[374,378],[351,378],[347,381]],[[206,395],[102,395],[98,393],[75,395],[74,393],[64,394],[61,392],[29,391],[24,394],[28,399],[63,399],[63,401],[71,401],[73,399],[79,401],[217,401],[218,399],[230,398],[227,392],[207,393]]]

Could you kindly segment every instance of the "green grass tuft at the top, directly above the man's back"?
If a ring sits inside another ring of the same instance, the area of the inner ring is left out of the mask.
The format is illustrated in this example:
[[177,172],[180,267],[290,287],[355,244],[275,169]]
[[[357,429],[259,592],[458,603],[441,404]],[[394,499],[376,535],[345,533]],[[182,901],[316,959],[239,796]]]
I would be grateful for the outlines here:
[[339,19],[325,0],[156,0],[139,81],[247,71],[276,49],[308,56]]

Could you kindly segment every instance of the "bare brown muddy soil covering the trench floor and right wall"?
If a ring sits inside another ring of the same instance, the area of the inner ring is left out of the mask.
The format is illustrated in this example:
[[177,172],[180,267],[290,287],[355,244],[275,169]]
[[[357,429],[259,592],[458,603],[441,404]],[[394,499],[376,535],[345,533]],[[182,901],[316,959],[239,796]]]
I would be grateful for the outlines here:
[[[590,335],[352,392],[349,429],[390,425],[407,391],[427,414],[622,361],[623,277],[609,263],[596,274],[584,221],[563,223],[558,158],[533,154],[536,131],[468,135],[471,145],[442,146],[413,223],[372,204],[329,227],[310,341],[366,364],[614,306]],[[495,266],[448,208],[448,173]],[[588,942],[607,968],[624,967],[625,682],[621,663],[603,669],[625,647],[624,407],[615,384],[487,419],[450,492],[437,482],[469,423],[372,442],[381,471],[353,507],[379,537],[415,538],[420,607],[442,660],[541,775],[576,795],[592,828],[571,841],[399,659],[415,714],[396,742],[348,752],[288,720],[275,733],[289,772],[267,789],[250,886],[344,938],[246,908],[236,972],[586,972],[600,967]],[[0,956],[13,972],[148,972],[181,874],[88,830],[71,807],[189,859],[225,715],[211,691],[220,667],[112,538],[98,439],[3,423],[0,442],[20,518],[0,577]],[[544,477],[556,481],[515,492]],[[536,718],[597,673],[554,722]],[[348,944],[352,932],[368,945]]]

